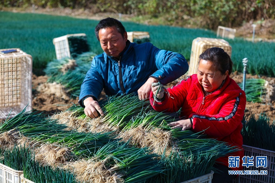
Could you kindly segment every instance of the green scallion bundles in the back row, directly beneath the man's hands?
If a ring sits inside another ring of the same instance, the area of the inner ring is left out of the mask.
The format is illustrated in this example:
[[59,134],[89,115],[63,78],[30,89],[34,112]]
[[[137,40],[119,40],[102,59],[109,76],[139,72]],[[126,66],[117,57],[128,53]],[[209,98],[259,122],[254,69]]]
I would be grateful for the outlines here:
[[[108,100],[99,100],[99,104],[105,113],[101,123],[120,132],[135,127],[143,127],[150,130],[152,127],[166,125],[179,119],[179,112],[165,113],[157,112],[150,105],[149,101],[139,100],[133,93],[124,96],[112,96]],[[80,106],[72,106],[68,109],[72,116],[78,119],[85,119],[84,109]]]

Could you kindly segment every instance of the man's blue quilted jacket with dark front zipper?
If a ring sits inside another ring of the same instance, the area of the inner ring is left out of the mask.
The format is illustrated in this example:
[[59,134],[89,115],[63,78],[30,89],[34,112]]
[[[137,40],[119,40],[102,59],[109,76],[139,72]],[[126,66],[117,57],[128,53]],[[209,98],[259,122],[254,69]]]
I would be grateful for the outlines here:
[[161,50],[152,43],[127,46],[116,59],[105,52],[94,57],[90,70],[81,85],[79,104],[91,96],[97,100],[102,89],[106,95],[138,94],[138,89],[149,77],[168,84],[188,70],[188,63],[179,53]]

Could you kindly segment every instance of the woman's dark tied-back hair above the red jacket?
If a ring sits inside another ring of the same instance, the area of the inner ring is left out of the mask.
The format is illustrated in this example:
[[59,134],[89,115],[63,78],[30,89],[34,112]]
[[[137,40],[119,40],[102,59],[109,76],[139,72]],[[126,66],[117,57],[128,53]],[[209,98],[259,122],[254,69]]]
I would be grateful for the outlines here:
[[225,74],[226,70],[228,70],[228,75],[230,75],[232,72],[232,60],[222,48],[208,48],[202,54],[200,54],[199,63],[201,59],[212,62],[214,68],[221,71],[222,74]]

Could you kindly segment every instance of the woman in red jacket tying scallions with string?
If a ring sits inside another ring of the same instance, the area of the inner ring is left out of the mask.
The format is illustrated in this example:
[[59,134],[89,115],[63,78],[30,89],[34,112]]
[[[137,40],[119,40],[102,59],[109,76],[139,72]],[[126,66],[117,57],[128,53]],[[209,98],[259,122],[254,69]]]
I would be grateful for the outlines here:
[[[229,78],[232,64],[230,56],[222,48],[207,49],[199,57],[197,74],[182,79],[167,90],[162,87],[156,97],[159,86],[152,83],[151,105],[157,111],[166,112],[176,112],[182,107],[181,117],[187,119],[168,124],[172,129],[190,129],[194,132],[204,130],[209,138],[242,148],[240,131],[246,97],[237,83]],[[229,156],[240,157],[238,167],[229,168]],[[231,182],[236,175],[229,175],[228,170],[242,170],[244,151],[229,156],[217,160],[215,167],[223,173],[215,173],[212,183]]]

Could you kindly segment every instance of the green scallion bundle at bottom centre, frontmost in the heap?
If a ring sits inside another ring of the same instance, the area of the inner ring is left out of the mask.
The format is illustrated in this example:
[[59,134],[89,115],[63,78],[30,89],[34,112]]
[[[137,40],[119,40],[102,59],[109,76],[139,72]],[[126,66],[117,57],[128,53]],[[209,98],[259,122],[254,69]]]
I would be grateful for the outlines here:
[[92,160],[100,161],[125,182],[143,182],[164,171],[158,155],[149,148],[130,147],[128,142],[110,142],[101,147]]

